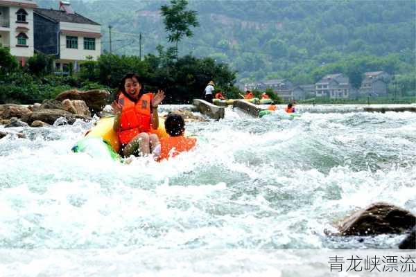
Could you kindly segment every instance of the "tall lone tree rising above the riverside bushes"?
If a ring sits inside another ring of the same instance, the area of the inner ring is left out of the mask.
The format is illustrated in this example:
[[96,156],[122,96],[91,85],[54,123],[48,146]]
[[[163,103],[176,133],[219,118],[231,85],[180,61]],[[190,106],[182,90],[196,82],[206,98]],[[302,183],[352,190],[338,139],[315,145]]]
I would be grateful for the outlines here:
[[169,33],[168,41],[175,42],[176,58],[177,43],[182,37],[192,37],[191,26],[199,26],[195,10],[186,10],[187,0],[171,0],[171,6],[164,5],[160,8],[162,17],[164,17],[165,30]]

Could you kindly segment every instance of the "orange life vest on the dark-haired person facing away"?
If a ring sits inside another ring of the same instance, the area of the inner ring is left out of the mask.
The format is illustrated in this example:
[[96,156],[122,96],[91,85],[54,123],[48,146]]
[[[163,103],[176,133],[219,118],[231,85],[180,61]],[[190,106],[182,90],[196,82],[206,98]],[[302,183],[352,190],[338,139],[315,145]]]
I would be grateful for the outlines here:
[[184,136],[169,136],[160,139],[160,156],[159,161],[175,157],[180,152],[191,150],[196,145],[196,139],[186,138]]

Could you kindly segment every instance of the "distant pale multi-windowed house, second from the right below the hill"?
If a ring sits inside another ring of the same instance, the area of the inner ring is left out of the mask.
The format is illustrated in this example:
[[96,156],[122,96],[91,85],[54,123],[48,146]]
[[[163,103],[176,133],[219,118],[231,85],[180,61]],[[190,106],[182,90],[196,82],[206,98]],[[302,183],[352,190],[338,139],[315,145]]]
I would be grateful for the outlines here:
[[315,84],[316,97],[329,97],[331,99],[347,99],[352,93],[349,78],[342,73],[325,75]]

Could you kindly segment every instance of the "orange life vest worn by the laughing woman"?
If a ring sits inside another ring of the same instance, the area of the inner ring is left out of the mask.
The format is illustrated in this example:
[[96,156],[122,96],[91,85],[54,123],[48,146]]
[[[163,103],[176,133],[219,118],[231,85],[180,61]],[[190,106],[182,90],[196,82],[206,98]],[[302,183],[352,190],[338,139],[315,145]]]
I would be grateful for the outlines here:
[[133,102],[122,93],[119,104],[123,105],[120,117],[120,129],[117,132],[121,144],[129,143],[137,134],[150,132],[150,103],[153,93],[146,93],[137,102]]

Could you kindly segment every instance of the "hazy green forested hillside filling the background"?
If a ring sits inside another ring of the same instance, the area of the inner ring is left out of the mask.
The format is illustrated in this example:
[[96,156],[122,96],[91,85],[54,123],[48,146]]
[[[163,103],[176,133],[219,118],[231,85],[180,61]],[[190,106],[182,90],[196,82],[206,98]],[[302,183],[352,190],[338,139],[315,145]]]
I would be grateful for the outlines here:
[[[42,8],[58,1],[37,0]],[[71,1],[76,12],[102,24],[103,48],[115,53],[157,53],[168,45],[159,8],[167,1]],[[238,71],[238,80],[291,78],[315,82],[333,70],[386,70],[415,75],[416,2],[197,1],[200,27],[179,44],[179,54],[214,57]],[[355,63],[351,63],[355,61]],[[407,76],[407,77],[406,77]],[[413,82],[410,80],[409,82]]]

